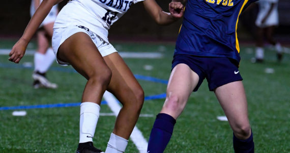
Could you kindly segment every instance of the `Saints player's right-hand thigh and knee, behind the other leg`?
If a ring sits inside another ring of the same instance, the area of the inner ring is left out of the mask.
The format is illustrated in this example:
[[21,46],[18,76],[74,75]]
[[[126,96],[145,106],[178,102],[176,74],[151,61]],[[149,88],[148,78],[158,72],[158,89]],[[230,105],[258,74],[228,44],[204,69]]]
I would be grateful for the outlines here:
[[108,91],[112,92],[122,104],[130,101],[143,101],[143,90],[126,65],[122,57],[112,53],[104,57],[104,60],[112,72]]

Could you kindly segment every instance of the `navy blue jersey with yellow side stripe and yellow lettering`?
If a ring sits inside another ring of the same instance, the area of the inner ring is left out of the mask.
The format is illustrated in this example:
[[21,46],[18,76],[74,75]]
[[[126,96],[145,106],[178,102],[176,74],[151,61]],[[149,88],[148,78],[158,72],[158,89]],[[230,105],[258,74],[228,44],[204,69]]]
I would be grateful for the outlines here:
[[228,57],[240,62],[238,18],[256,0],[188,0],[175,55]]

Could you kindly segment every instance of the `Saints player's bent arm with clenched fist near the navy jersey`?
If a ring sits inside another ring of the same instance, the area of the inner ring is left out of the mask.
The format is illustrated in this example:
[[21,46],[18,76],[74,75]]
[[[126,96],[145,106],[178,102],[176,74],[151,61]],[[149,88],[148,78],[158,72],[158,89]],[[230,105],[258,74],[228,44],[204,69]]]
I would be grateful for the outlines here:
[[164,12],[155,0],[146,0],[143,4],[147,12],[158,24],[170,24],[183,16],[184,6],[179,2],[171,2],[169,4],[169,10],[171,9],[172,13],[171,11],[170,13]]

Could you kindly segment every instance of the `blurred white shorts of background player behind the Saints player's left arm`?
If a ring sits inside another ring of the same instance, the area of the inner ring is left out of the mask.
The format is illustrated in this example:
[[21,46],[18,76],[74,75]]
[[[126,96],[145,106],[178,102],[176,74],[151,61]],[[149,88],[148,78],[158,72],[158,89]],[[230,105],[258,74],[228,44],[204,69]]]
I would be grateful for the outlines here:
[[[31,2],[31,6],[30,6],[30,15],[31,17],[33,16],[33,14],[35,13],[36,9],[35,8],[35,3],[34,3],[35,0],[32,0]],[[42,2],[42,0],[39,0],[39,4]],[[43,22],[40,24],[39,27],[42,27],[43,25],[47,24],[47,23],[51,23],[51,22],[54,22],[55,19],[56,19],[56,16],[57,16],[57,12],[58,9],[57,9],[57,5],[54,5],[52,7],[52,9],[50,10],[50,12],[48,13],[48,15],[46,16],[46,18],[43,20]]]

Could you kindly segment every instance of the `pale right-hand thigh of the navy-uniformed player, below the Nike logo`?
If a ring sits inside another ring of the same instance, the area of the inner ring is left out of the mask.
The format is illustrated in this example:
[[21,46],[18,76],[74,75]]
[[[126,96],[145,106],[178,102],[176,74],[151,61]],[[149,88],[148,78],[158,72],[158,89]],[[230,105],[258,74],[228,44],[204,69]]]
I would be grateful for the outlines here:
[[249,126],[247,99],[242,81],[220,86],[216,88],[215,94],[232,129]]

